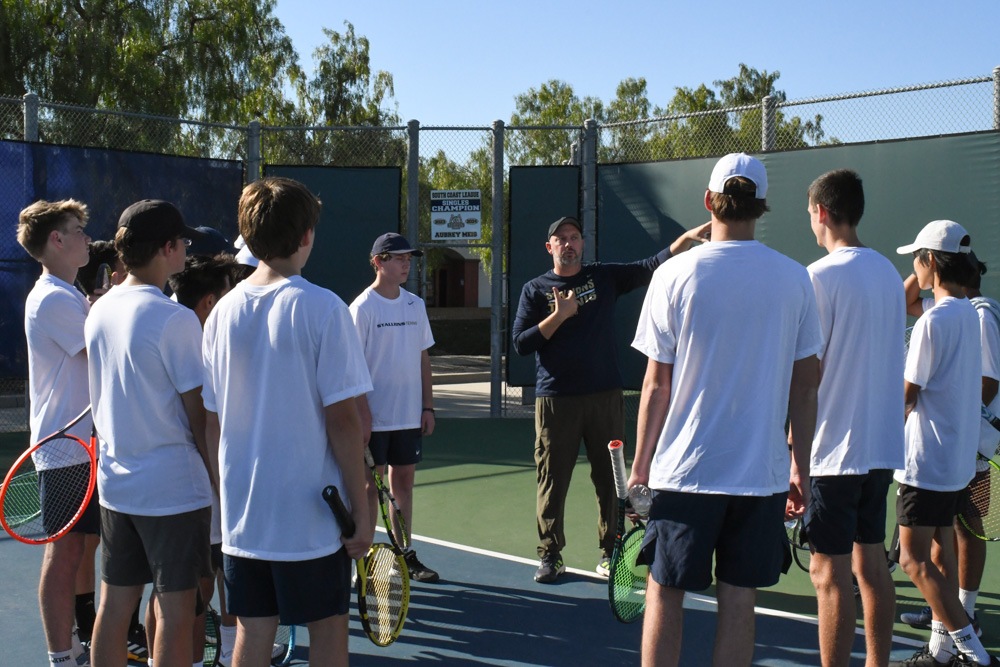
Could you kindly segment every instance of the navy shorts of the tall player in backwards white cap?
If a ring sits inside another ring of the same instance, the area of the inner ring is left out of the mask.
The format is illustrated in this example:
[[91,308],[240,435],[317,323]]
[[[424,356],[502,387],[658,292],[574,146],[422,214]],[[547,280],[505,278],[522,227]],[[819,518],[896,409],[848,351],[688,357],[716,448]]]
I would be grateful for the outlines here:
[[715,577],[744,588],[778,582],[787,549],[787,492],[726,496],[653,491],[638,563],[661,586],[705,590]]

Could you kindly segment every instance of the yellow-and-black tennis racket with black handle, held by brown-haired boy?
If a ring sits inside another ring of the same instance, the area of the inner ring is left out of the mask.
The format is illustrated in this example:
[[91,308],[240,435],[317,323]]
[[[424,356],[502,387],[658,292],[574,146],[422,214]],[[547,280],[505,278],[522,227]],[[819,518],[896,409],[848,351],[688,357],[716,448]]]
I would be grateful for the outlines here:
[[[378,486],[377,475],[375,479]],[[337,487],[323,489],[323,499],[333,510],[344,535],[354,535],[354,519],[344,506]],[[391,529],[389,535],[392,539]],[[368,639],[376,646],[388,646],[396,641],[410,606],[410,575],[396,547],[373,544],[365,557],[358,560],[357,593],[361,627]]]

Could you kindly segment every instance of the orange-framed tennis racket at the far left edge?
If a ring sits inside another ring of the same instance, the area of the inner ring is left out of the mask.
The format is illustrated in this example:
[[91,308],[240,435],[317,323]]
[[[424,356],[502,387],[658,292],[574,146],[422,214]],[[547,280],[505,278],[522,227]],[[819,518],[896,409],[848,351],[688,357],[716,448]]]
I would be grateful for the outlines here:
[[15,540],[46,544],[59,539],[83,515],[97,481],[97,430],[90,443],[67,433],[90,406],[66,426],[21,454],[0,486],[0,525]]

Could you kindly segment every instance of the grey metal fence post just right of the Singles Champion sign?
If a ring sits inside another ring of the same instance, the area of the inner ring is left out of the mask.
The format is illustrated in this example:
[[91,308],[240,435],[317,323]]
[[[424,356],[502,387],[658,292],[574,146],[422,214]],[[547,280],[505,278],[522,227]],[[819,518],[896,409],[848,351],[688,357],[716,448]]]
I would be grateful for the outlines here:
[[503,240],[507,230],[503,219],[503,139],[502,120],[493,121],[493,226],[490,231],[490,417],[500,417],[503,402]]

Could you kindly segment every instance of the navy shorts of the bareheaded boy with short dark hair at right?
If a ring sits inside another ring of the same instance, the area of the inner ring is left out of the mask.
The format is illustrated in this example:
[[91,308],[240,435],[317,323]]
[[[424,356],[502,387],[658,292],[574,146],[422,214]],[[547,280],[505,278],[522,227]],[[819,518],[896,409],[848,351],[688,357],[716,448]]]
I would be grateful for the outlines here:
[[813,477],[804,519],[809,546],[816,553],[842,556],[854,550],[855,542],[884,543],[892,472]]

